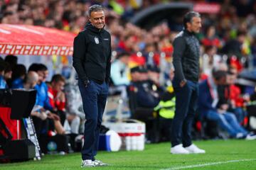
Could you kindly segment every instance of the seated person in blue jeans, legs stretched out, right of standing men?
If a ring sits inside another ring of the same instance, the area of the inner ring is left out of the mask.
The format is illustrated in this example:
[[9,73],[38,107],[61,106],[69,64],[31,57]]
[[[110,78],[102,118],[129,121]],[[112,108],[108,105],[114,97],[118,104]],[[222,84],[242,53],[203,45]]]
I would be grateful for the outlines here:
[[213,72],[213,77],[208,77],[208,79],[201,82],[199,85],[198,110],[205,118],[215,120],[220,128],[228,132],[230,137],[255,140],[256,135],[252,135],[242,128],[235,115],[227,111],[228,105],[222,104],[218,107],[218,85],[226,84],[226,75],[225,71],[216,71]]

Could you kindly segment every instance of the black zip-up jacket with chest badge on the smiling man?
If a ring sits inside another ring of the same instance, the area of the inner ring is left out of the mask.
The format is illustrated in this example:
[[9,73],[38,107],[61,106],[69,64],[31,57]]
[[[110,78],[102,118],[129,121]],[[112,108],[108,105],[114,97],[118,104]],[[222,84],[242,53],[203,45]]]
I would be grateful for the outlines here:
[[73,67],[78,78],[102,84],[110,81],[111,66],[110,33],[104,28],[98,29],[87,23],[85,29],[75,37]]

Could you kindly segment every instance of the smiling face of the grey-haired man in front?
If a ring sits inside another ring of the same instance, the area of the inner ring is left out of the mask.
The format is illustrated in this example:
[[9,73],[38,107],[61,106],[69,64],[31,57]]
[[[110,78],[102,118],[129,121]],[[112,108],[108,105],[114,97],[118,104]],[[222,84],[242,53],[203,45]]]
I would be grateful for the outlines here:
[[105,26],[104,11],[92,11],[89,20],[92,23],[92,26],[95,26],[98,29],[104,28],[104,26]]

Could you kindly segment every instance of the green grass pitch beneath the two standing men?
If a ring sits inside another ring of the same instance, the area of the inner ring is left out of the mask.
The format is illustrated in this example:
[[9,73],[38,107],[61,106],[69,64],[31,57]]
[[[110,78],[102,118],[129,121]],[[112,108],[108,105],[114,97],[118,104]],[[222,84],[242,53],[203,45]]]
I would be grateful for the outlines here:
[[[230,160],[251,159],[250,161],[228,162],[190,169],[256,169],[256,140],[209,140],[195,142],[198,147],[206,149],[206,154],[174,155],[170,154],[170,143],[146,145],[144,151],[99,152],[97,159],[111,166],[90,169],[174,169],[189,165],[227,162]],[[41,161],[0,164],[1,170],[75,170],[80,168],[80,153],[46,155]],[[183,168],[182,168],[183,169]]]

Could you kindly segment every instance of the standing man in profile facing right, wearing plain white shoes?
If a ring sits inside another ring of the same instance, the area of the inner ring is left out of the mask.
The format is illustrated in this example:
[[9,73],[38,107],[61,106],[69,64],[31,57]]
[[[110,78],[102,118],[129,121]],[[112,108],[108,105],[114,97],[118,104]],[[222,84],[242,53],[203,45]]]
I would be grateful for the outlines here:
[[201,16],[188,12],[183,18],[185,29],[174,39],[174,80],[176,111],[171,128],[171,153],[205,153],[191,141],[191,128],[198,101],[200,46],[194,35],[201,28]]

